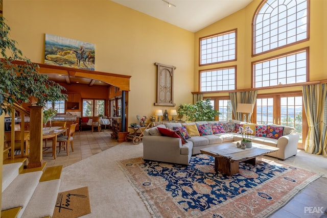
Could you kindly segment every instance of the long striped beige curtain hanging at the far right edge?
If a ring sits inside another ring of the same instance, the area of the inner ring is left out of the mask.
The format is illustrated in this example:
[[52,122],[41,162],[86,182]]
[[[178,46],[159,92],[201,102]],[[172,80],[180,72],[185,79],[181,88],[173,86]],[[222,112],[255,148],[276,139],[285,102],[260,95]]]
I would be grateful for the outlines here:
[[302,86],[308,120],[305,151],[327,156],[327,83]]

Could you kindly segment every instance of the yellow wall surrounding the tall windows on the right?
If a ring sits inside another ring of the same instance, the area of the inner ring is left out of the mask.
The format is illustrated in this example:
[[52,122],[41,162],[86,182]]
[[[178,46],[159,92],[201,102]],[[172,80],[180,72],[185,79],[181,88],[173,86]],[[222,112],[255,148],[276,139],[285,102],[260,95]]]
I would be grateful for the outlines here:
[[[213,25],[210,25],[197,33],[195,33],[195,56],[194,56],[194,87],[199,90],[199,70],[223,66],[237,65],[237,89],[251,88],[251,62],[272,57],[278,54],[287,53],[290,51],[310,47],[310,81],[327,79],[326,65],[326,18],[327,18],[327,1],[311,0],[310,4],[310,40],[286,47],[284,49],[274,51],[268,54],[251,57],[251,25],[253,14],[256,8],[260,5],[261,0],[254,0],[247,7],[238,12],[225,17]],[[199,38],[215,33],[224,32],[237,28],[237,61],[213,64],[209,66],[199,66]],[[259,90],[259,93],[273,93],[301,90],[301,87],[287,87],[270,90]],[[216,93],[206,95],[228,95],[228,93]],[[205,96],[205,95],[204,95]]]

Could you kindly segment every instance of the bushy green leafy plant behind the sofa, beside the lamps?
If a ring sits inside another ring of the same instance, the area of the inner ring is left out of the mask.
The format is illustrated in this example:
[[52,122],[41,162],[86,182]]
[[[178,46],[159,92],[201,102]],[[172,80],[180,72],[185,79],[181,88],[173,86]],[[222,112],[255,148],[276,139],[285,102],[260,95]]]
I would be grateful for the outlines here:
[[195,104],[181,104],[178,108],[179,115],[186,115],[188,121],[213,121],[220,114],[211,105],[210,100],[198,101]]

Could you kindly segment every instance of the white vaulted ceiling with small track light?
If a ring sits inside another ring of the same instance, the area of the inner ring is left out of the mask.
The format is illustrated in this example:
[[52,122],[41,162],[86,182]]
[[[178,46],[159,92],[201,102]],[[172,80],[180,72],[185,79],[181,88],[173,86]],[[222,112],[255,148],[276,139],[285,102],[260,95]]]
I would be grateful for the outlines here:
[[[191,32],[237,12],[252,0],[111,0]],[[169,7],[170,5],[170,7]]]

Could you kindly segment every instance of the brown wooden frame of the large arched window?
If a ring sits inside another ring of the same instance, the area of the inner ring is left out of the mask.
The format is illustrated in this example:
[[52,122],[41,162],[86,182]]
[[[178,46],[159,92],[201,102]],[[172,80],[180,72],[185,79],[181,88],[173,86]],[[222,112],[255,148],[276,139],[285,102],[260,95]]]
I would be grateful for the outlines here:
[[255,37],[254,37],[254,34],[255,34],[255,31],[254,31],[255,21],[256,21],[256,17],[258,16],[260,10],[264,7],[266,2],[267,2],[267,0],[263,0],[259,4],[259,6],[256,8],[256,10],[255,10],[255,12],[253,14],[253,17],[252,17],[252,33],[251,33],[251,40],[252,40],[251,41],[251,45],[252,45],[251,46],[251,50],[252,50],[251,51],[251,56],[252,57],[255,57],[255,56],[258,56],[258,55],[263,55],[263,54],[273,52],[273,51],[276,51],[276,50],[284,49],[285,47],[293,46],[295,44],[299,44],[299,43],[310,40],[310,0],[307,0],[307,38],[301,39],[299,41],[295,41],[295,42],[292,42],[292,43],[289,43],[289,44],[285,44],[283,46],[275,47],[274,49],[270,49],[270,50],[267,50],[267,51],[264,51],[264,52],[255,53]]

